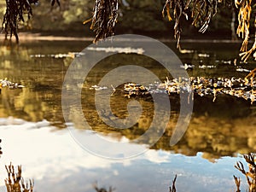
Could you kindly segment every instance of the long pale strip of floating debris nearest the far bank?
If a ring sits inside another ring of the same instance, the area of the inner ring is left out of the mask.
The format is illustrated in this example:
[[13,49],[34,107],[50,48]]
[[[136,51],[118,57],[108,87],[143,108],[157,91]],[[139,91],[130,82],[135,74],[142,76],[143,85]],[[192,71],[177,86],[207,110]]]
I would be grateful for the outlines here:
[[131,54],[135,53],[138,55],[143,55],[145,50],[143,48],[131,48],[131,47],[88,47],[86,48],[88,50],[96,50],[96,51],[105,51],[106,53],[109,52],[117,52],[117,53],[125,53],[125,54]]

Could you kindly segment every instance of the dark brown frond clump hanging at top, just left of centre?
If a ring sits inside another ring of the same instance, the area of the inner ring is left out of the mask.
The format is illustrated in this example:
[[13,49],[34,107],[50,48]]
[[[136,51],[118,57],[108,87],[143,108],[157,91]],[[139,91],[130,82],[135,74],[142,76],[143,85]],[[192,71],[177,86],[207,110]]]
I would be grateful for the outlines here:
[[96,32],[94,43],[99,39],[113,36],[118,9],[118,0],[96,0],[92,18],[84,21],[84,24],[91,21],[90,29]]

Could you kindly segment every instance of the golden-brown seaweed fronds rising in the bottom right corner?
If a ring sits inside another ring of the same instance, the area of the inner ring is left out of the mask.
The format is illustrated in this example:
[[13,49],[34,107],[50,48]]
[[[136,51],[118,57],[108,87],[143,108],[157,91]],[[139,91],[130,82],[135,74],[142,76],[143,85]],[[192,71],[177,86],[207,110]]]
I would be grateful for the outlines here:
[[[247,178],[247,184],[249,188],[249,192],[256,191],[256,165],[255,165],[255,157],[256,154],[244,154],[243,158],[247,161],[248,171],[245,170],[241,161],[236,163],[236,169],[238,169],[242,174],[244,174]],[[240,178],[235,177],[237,191],[240,191]]]

